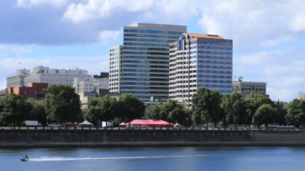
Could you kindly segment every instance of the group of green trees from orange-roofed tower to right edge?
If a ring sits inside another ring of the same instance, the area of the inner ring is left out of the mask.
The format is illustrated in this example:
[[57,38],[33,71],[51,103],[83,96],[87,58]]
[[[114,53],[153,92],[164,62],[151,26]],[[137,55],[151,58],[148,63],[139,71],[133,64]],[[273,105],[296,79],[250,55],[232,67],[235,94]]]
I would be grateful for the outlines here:
[[249,94],[244,99],[238,93],[220,94],[218,90],[205,87],[197,89],[192,97],[192,120],[196,124],[214,122],[226,126],[234,124],[258,127],[268,124],[302,126],[305,102],[294,99],[285,108],[282,103],[274,103],[260,94]]

